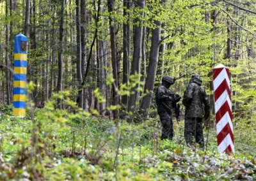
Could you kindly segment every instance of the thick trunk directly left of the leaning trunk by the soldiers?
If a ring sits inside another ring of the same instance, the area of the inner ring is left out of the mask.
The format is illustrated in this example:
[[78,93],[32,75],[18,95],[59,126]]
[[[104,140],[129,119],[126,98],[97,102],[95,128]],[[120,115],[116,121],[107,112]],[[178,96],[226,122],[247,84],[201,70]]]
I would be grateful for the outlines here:
[[[136,8],[144,8],[144,0],[135,1]],[[141,16],[143,14],[141,13]],[[134,36],[133,36],[133,55],[132,55],[132,65],[131,65],[131,75],[138,74],[140,75],[140,67],[141,67],[141,41],[142,41],[142,29],[140,18],[135,19],[135,23],[138,25],[134,25]],[[129,98],[128,111],[134,112],[134,107],[136,105],[138,99],[138,88],[140,87],[140,78],[138,79],[138,84],[132,88],[133,94],[131,94]],[[129,122],[132,120],[129,119]]]

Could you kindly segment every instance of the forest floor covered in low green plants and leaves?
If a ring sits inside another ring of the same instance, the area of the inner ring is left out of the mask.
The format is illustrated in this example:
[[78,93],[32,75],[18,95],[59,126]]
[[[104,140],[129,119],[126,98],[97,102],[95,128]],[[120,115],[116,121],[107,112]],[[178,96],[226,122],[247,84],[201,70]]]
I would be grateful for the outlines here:
[[213,128],[207,151],[187,148],[184,122],[175,122],[173,141],[161,141],[156,119],[116,124],[46,108],[31,121],[10,117],[8,106],[0,112],[0,180],[256,180],[255,143],[241,134],[228,156],[217,152]]

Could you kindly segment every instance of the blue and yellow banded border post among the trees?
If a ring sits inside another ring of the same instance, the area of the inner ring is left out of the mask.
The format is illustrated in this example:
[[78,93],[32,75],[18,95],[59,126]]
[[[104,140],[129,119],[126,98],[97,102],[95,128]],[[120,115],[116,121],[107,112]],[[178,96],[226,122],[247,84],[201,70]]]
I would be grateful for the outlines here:
[[15,36],[14,76],[13,76],[13,115],[26,116],[28,38],[24,34]]

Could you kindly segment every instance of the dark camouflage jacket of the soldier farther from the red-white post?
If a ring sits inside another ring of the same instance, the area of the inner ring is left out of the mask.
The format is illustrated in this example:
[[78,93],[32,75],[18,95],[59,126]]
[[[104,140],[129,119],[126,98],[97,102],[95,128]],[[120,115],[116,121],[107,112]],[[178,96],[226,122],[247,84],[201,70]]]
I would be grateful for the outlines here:
[[166,113],[169,113],[171,115],[173,96],[174,96],[173,91],[170,91],[169,89],[164,87],[164,85],[160,85],[156,90],[157,112],[165,111]]

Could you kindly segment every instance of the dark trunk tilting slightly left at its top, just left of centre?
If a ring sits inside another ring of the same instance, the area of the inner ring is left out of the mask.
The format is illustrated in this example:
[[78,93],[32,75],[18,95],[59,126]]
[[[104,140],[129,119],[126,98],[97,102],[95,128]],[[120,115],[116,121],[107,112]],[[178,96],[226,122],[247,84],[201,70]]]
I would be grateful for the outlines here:
[[[109,13],[113,13],[115,10],[115,2],[114,0],[108,0],[108,11]],[[116,59],[116,34],[115,34],[115,18],[109,16],[109,29],[110,29],[110,43],[111,43],[111,63],[113,68],[113,78],[115,81],[113,82],[113,105],[118,105],[118,93],[116,89],[118,89],[118,70],[117,70],[117,59]],[[119,110],[116,108],[113,112],[113,118],[118,119]]]

